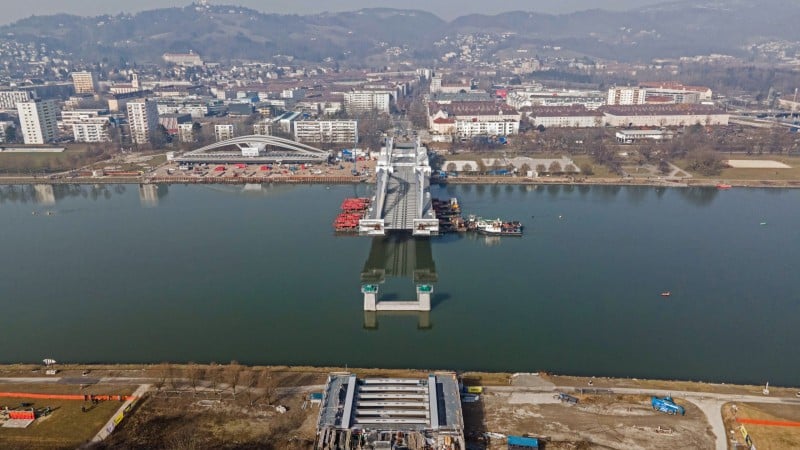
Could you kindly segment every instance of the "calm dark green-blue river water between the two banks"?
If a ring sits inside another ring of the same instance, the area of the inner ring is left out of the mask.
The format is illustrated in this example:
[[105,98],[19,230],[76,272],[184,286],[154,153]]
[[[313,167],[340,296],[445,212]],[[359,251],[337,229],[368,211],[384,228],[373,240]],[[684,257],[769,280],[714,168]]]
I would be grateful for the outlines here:
[[[435,187],[525,236],[335,236],[369,189],[2,186],[0,362],[800,382],[800,190]],[[365,316],[384,269],[384,299],[433,274],[433,311]]]

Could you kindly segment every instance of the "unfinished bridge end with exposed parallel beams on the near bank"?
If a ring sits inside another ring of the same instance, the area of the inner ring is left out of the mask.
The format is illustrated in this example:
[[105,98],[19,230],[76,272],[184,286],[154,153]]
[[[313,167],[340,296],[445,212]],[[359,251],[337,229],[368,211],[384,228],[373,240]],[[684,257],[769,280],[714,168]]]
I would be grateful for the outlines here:
[[427,378],[328,376],[316,450],[463,450],[464,418],[452,372]]

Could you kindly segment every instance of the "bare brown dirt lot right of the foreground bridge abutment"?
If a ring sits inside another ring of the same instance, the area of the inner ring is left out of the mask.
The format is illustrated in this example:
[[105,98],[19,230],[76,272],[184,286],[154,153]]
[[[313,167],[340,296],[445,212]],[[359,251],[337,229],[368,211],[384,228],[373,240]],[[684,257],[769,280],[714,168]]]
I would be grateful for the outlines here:
[[[548,449],[711,449],[714,437],[703,413],[680,398],[685,416],[653,411],[643,395],[576,395],[577,405],[553,393],[485,391],[464,405],[467,430],[544,437]],[[504,440],[477,438],[474,448],[505,449]]]

